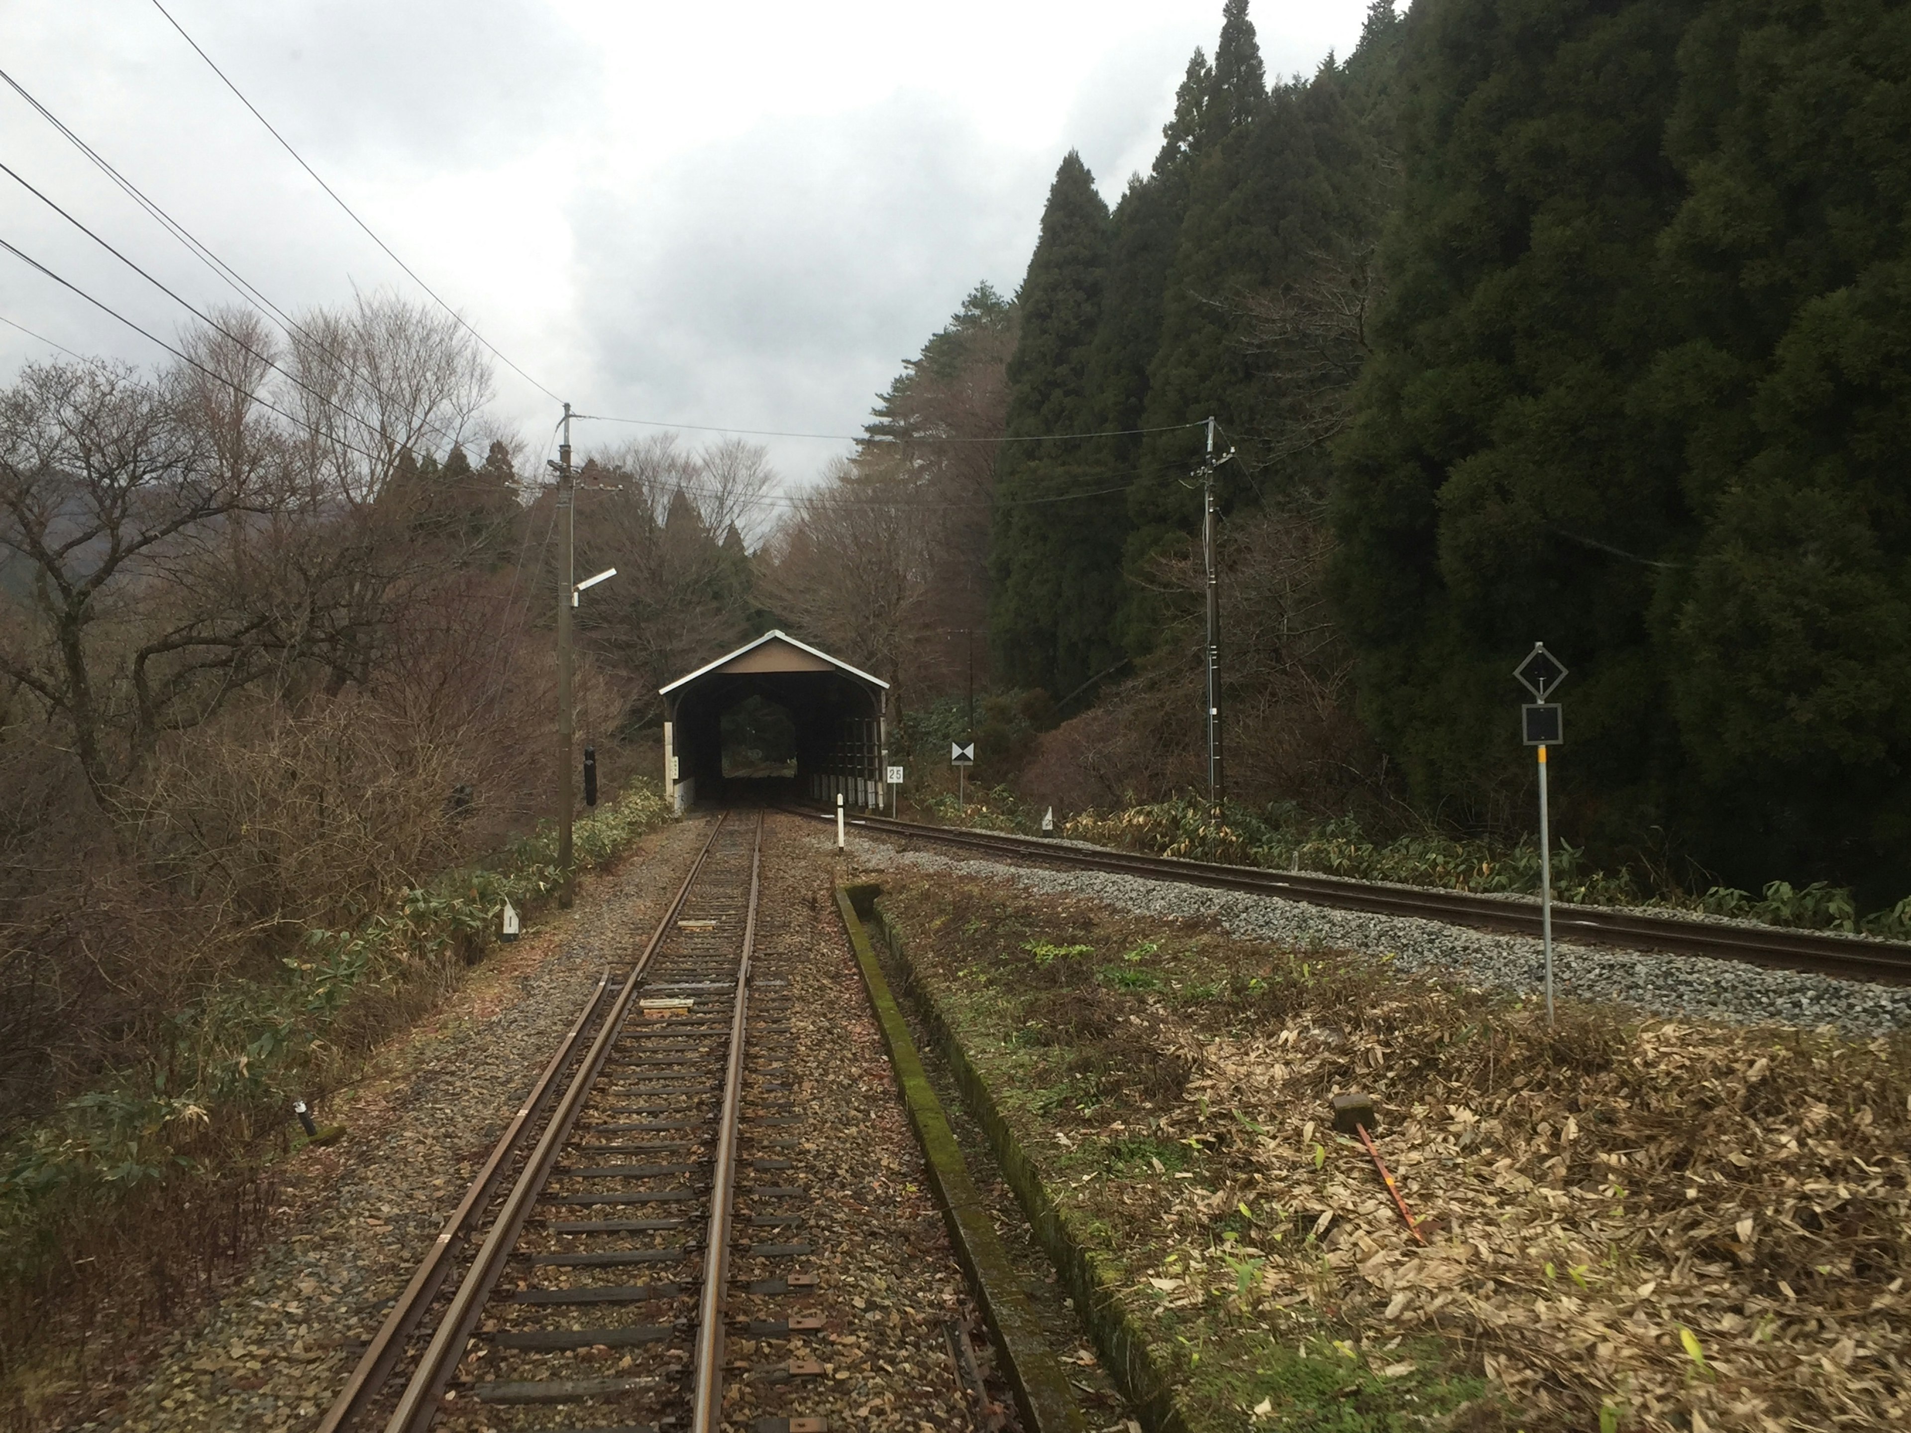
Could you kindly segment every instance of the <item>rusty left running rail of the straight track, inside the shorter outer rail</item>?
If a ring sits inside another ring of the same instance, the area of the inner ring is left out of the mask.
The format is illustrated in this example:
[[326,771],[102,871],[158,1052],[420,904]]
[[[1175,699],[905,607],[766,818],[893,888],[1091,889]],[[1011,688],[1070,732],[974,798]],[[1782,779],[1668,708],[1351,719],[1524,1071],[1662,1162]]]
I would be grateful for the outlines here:
[[503,1276],[510,1250],[524,1232],[524,1225],[531,1215],[531,1208],[537,1204],[539,1192],[550,1179],[550,1167],[558,1158],[558,1150],[562,1150],[566,1139],[569,1139],[571,1125],[583,1110],[585,1097],[590,1093],[598,1074],[604,1070],[604,1060],[610,1055],[610,1047],[617,1039],[625,1015],[629,1015],[631,1001],[636,997],[644,969],[650,965],[652,955],[657,953],[657,946],[663,944],[663,938],[676,921],[678,911],[682,911],[684,900],[690,896],[690,887],[703,869],[703,862],[709,856],[711,846],[717,843],[717,833],[722,829],[726,820],[728,814],[717,818],[717,823],[711,827],[709,841],[703,843],[703,850],[699,850],[696,862],[692,862],[690,873],[676,890],[676,898],[663,913],[663,919],[657,921],[657,929],[644,946],[644,953],[638,957],[631,974],[617,990],[617,999],[612,1003],[610,1013],[598,1026],[598,1034],[590,1041],[590,1049],[585,1053],[577,1072],[571,1076],[571,1081],[564,1091],[564,1097],[552,1110],[550,1120],[545,1125],[545,1133],[531,1150],[529,1160],[526,1160],[510,1194],[505,1196],[505,1204],[499,1209],[497,1219],[491,1223],[491,1230],[485,1234],[483,1244],[478,1248],[478,1253],[472,1259],[464,1280],[459,1284],[457,1294],[451,1295],[451,1307],[440,1320],[438,1332],[432,1336],[419,1368],[405,1383],[405,1391],[399,1395],[397,1406],[386,1422],[386,1433],[424,1433],[424,1429],[430,1427],[432,1418],[438,1414],[438,1401],[443,1397],[445,1387],[449,1387],[451,1378],[457,1374],[459,1362],[464,1358],[464,1349],[470,1345],[472,1332],[476,1332],[478,1320],[483,1315],[485,1299]]

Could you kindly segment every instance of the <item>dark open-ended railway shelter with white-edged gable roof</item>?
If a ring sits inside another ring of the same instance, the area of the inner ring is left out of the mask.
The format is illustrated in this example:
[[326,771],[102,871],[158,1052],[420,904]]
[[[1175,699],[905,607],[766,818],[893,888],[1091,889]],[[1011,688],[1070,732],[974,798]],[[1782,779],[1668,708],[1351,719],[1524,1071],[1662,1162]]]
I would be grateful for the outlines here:
[[694,804],[820,801],[881,808],[889,682],[764,632],[663,695],[663,780]]

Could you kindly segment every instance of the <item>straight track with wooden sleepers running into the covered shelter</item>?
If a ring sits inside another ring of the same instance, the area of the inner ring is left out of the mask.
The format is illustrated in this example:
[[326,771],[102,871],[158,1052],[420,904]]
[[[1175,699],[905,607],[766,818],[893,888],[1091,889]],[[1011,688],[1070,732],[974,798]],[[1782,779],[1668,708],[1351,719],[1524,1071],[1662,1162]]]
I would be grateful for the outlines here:
[[[762,1274],[740,1286],[751,1307],[784,1313],[740,1330],[755,1349],[822,1326],[803,1315],[810,1250],[780,1242],[801,1223],[789,1209],[805,1190],[782,1171],[803,1120],[780,1099],[785,980],[753,971],[761,860],[762,814],[719,818],[631,973],[587,1001],[321,1433],[717,1429],[732,1257]],[[808,1370],[741,1372],[801,1389]],[[820,1433],[826,1420],[755,1427]]]

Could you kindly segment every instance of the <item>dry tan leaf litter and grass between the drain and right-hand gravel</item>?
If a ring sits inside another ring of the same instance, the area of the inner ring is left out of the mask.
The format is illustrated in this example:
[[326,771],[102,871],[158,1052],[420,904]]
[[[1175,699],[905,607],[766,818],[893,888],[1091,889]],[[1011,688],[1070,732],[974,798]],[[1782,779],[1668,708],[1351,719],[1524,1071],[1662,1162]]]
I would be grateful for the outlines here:
[[[1529,1433],[1911,1427],[1903,1036],[1575,1003],[1548,1028],[1385,959],[1164,936],[1080,900],[912,877],[885,904],[921,927],[917,969],[971,1036],[1047,1047],[1024,1072],[1074,1070],[1068,1099],[1003,1102],[1043,1133],[1028,1150],[1057,1198],[1114,1230],[1124,1303],[1164,1339],[1225,1315],[1403,1381],[1418,1364],[1401,1343],[1433,1339]],[[1057,976],[1020,950],[1149,936],[1160,990],[1066,961]],[[1164,1087],[1164,1070],[1185,1080]],[[1426,1248],[1328,1123],[1347,1089],[1378,1104]],[[1192,1175],[1162,1164],[1175,1148]],[[1278,1399],[1236,1406],[1280,1425]],[[1481,1418],[1468,1427],[1496,1422]]]

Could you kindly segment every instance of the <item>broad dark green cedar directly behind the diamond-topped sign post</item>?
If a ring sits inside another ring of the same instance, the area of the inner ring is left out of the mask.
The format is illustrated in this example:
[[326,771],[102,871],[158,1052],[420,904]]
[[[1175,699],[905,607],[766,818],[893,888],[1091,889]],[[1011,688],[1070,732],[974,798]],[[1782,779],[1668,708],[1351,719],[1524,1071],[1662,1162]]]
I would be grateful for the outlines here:
[[[1510,669],[1575,671],[1580,823],[1663,818],[1676,770],[1651,610],[1689,545],[1655,417],[1657,237],[1697,0],[1447,0],[1406,21],[1401,208],[1342,445],[1340,613],[1363,713],[1416,795],[1491,816],[1527,776]],[[1498,780],[1498,787],[1494,785]]]

